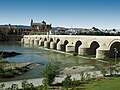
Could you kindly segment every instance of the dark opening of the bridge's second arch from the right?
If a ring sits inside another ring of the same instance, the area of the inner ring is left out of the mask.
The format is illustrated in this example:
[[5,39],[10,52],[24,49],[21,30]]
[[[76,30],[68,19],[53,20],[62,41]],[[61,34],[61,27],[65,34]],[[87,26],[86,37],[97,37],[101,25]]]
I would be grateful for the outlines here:
[[100,47],[99,43],[96,42],[96,41],[93,41],[91,44],[90,44],[90,50],[89,50],[89,54],[90,55],[96,55],[96,49]]

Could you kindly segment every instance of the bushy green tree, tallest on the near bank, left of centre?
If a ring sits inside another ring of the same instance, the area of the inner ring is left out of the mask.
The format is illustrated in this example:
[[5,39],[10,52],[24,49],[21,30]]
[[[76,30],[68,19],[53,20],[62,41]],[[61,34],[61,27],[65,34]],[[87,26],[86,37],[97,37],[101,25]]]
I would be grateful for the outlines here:
[[51,61],[48,63],[45,68],[43,69],[43,76],[46,78],[48,85],[51,85],[55,77],[60,73],[60,62],[58,61]]

